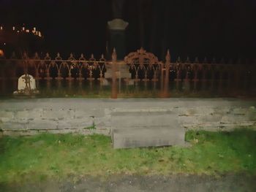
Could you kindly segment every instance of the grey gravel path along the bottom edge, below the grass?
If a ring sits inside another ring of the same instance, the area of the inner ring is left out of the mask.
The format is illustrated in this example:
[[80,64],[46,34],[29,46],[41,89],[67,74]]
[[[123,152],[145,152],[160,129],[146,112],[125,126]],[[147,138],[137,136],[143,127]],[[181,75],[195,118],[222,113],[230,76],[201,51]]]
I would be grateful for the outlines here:
[[142,192],[142,191],[256,191],[256,176],[228,174],[222,177],[173,175],[173,176],[130,176],[113,175],[108,179],[86,177],[78,183],[48,181],[36,184],[0,185],[0,191],[33,192]]

